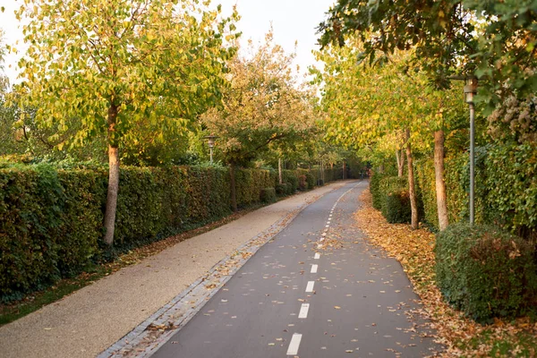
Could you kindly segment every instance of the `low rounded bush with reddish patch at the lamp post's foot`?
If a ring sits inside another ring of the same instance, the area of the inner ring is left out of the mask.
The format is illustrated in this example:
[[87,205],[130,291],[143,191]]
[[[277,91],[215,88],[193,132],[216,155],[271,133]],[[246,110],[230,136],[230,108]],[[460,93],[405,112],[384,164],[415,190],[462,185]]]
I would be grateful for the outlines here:
[[495,226],[456,224],[437,236],[437,283],[447,302],[474,320],[535,309],[532,244]]

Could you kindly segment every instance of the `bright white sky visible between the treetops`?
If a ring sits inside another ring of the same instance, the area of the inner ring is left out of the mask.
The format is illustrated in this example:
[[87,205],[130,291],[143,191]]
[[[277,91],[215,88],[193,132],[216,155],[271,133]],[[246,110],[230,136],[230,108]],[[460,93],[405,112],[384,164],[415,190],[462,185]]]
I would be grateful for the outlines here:
[[[241,40],[243,46],[249,38],[254,43],[261,41],[272,23],[274,38],[277,44],[291,53],[296,49],[295,64],[299,64],[301,71],[314,64],[311,50],[316,48],[317,34],[315,28],[325,18],[334,0],[212,0],[212,4],[222,4],[225,14],[231,13],[234,4],[242,16],[237,25],[243,32]],[[5,42],[15,45],[20,51],[19,55],[7,55],[4,63],[4,72],[13,83],[17,77],[17,61],[21,53],[26,50],[22,44],[22,31],[13,12],[18,9],[21,0],[0,0],[5,12],[0,13],[0,28],[5,32]]]

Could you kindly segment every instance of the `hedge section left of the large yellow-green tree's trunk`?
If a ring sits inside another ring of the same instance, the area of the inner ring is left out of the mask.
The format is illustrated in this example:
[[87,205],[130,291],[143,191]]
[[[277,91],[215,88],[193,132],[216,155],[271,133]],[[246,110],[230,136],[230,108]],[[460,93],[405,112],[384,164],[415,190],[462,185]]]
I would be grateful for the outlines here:
[[79,272],[98,253],[102,173],[51,166],[0,170],[0,301]]

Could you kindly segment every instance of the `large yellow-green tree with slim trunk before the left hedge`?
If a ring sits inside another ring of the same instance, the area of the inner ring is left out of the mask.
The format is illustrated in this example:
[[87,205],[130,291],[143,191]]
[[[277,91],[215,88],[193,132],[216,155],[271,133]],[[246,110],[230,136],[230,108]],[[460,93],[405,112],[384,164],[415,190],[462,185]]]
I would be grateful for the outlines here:
[[52,140],[78,124],[60,149],[106,135],[112,244],[122,143],[142,121],[158,127],[155,136],[181,132],[217,103],[236,13],[222,19],[219,7],[197,0],[28,0],[23,14],[30,48],[20,63],[21,106],[37,108],[38,124],[55,129]]

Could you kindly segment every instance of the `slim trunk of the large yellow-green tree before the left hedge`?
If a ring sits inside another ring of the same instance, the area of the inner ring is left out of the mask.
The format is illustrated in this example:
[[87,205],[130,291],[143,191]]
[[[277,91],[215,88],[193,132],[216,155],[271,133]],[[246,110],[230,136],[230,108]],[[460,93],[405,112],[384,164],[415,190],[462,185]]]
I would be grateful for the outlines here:
[[115,141],[115,124],[117,107],[108,108],[108,191],[105,210],[105,243],[112,246],[115,231],[115,210],[117,209],[117,192],[119,191],[119,149]]

